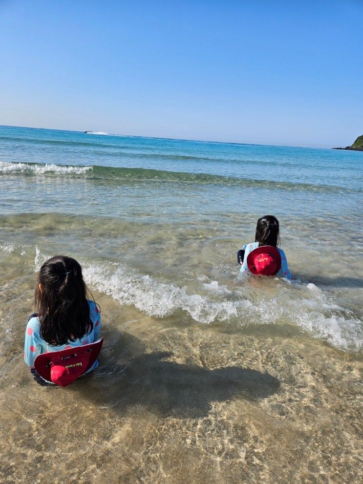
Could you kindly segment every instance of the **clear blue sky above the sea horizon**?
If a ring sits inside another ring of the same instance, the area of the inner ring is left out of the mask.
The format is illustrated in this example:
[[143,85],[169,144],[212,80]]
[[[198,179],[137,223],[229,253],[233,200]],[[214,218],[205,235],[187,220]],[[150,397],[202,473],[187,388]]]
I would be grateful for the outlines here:
[[0,124],[346,146],[363,0],[0,0]]

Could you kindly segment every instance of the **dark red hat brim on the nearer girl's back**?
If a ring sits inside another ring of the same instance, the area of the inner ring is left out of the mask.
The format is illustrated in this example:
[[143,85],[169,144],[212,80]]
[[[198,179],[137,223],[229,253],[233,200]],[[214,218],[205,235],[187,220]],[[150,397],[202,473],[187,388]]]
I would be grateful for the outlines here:
[[41,355],[38,355],[37,358],[35,358],[34,361],[34,367],[39,373],[39,375],[47,381],[51,381],[50,377],[50,362],[59,356],[61,357],[67,357],[75,353],[75,351],[79,351],[84,353],[87,350],[91,350],[91,355],[88,361],[88,365],[85,368],[85,373],[88,371],[93,363],[96,361],[98,355],[100,354],[101,348],[102,348],[102,343],[104,342],[104,338],[99,339],[98,341],[95,341],[94,343],[89,343],[85,344],[83,346],[73,346],[71,348],[67,348],[66,350],[61,350],[61,351],[49,351],[48,353],[42,353]]

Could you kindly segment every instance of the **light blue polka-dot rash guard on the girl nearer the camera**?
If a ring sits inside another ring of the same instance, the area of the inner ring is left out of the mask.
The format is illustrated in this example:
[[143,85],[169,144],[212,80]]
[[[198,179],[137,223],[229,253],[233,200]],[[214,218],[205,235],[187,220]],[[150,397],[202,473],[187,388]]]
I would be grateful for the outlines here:
[[[101,313],[94,301],[88,300],[89,304],[89,317],[93,322],[93,329],[89,335],[85,335],[80,339],[75,341],[68,341],[66,344],[61,346],[53,346],[41,337],[40,329],[41,323],[39,317],[35,316],[29,319],[25,330],[25,344],[24,344],[24,360],[25,363],[34,368],[34,361],[38,355],[41,353],[49,353],[50,351],[61,351],[67,348],[76,348],[77,346],[83,346],[85,344],[93,343],[100,339],[100,329],[101,329]],[[88,370],[91,371],[97,368],[98,361],[96,360],[92,367]],[[88,373],[87,372],[87,373]]]

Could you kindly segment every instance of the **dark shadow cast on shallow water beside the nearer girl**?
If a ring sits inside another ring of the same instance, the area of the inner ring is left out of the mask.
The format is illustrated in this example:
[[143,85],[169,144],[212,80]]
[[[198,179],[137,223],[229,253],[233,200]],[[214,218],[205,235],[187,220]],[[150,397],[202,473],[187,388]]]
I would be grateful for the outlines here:
[[128,334],[120,335],[119,341],[123,350],[117,359],[121,357],[122,364],[115,361],[112,348],[91,378],[76,383],[85,398],[117,412],[143,406],[158,415],[199,418],[208,414],[213,401],[266,398],[280,386],[277,378],[248,368],[179,364],[166,360],[173,355],[170,352],[132,355],[135,345],[138,353],[140,341]]

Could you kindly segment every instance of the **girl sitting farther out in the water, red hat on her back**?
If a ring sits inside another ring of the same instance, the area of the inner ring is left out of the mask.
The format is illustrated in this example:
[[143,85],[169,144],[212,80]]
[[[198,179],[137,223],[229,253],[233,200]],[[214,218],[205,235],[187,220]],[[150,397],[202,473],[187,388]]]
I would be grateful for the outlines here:
[[286,279],[292,279],[286,255],[277,247],[278,233],[278,219],[273,215],[265,215],[257,220],[255,242],[244,245],[237,253],[238,263],[242,266],[241,273],[281,275]]

